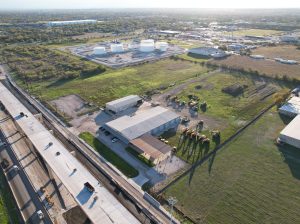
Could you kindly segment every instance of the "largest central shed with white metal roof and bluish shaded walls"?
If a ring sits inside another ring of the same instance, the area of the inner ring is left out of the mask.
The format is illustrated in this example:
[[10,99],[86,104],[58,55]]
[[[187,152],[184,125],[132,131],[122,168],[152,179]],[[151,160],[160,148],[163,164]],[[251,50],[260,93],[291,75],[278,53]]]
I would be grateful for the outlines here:
[[179,115],[158,106],[139,111],[134,116],[125,115],[117,118],[106,123],[104,128],[128,144],[131,140],[147,133],[160,135],[165,131],[177,128],[179,123]]

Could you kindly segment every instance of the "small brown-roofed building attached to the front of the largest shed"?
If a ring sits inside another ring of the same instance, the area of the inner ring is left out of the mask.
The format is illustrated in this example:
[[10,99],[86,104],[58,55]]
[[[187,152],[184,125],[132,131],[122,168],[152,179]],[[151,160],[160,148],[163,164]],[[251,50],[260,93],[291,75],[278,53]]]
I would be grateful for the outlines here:
[[142,135],[130,141],[129,146],[154,164],[171,156],[172,147],[150,134]]

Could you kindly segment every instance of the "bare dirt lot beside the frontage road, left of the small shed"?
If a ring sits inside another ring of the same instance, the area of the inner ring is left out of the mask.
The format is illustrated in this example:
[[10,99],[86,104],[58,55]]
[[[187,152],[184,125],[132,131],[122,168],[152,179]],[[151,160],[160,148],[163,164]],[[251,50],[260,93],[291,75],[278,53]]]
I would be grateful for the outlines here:
[[93,109],[93,107],[88,105],[81,97],[74,94],[52,100],[50,104],[59,110],[62,115],[70,118],[77,118]]

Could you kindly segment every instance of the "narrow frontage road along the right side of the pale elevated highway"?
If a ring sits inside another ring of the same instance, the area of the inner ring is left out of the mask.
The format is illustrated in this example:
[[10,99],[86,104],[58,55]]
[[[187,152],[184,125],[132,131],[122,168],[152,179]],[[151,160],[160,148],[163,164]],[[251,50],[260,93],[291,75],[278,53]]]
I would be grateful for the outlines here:
[[[75,151],[77,158],[80,162],[85,165],[89,171],[98,178],[109,190],[113,191],[116,197],[120,200],[124,206],[127,207],[142,223],[170,223],[170,214],[165,211],[165,209],[160,207],[155,207],[149,203],[144,198],[144,192],[134,188],[126,179],[120,176],[115,172],[109,164],[104,160],[99,158],[99,155],[95,151],[91,150],[85,144],[83,144],[77,136],[71,133],[65,126],[62,125],[62,122],[59,121],[47,108],[41,105],[38,101],[29,96],[25,91],[19,88],[10,76],[7,76],[7,87],[10,91],[17,96],[19,99],[26,99],[25,106],[33,107],[34,110],[37,110],[43,115],[44,122],[49,129],[54,131],[54,134],[59,140],[67,146],[71,151]],[[23,102],[23,100],[22,100]],[[32,110],[32,108],[28,108]],[[106,180],[104,179],[106,178]],[[116,189],[112,187],[115,185],[119,191],[126,195],[134,205],[128,205],[126,198],[120,199],[120,195],[116,194]],[[125,204],[126,203],[126,204]],[[138,209],[136,208],[138,207]],[[141,216],[141,212],[144,216]],[[151,221],[150,221],[151,220]],[[179,223],[177,220],[172,221],[172,223]]]

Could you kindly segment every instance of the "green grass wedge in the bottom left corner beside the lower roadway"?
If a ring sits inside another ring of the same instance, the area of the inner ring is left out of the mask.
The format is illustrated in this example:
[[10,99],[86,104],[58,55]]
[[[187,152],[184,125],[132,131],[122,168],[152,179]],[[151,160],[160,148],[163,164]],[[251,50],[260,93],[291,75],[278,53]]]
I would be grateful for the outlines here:
[[15,224],[19,223],[19,214],[15,207],[13,195],[5,180],[2,170],[0,171],[0,223],[9,224],[10,220]]

